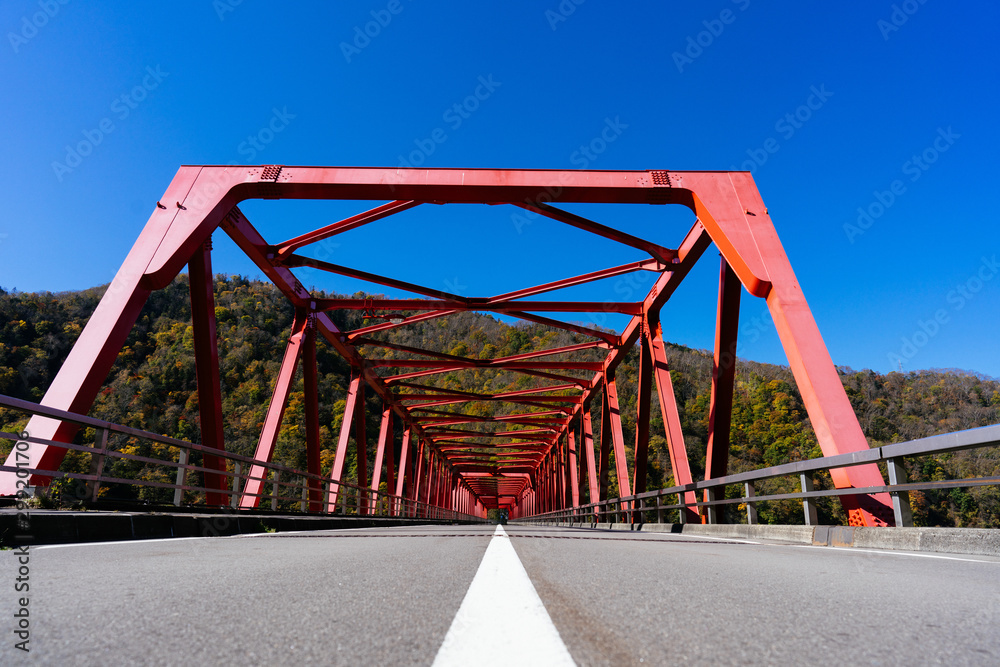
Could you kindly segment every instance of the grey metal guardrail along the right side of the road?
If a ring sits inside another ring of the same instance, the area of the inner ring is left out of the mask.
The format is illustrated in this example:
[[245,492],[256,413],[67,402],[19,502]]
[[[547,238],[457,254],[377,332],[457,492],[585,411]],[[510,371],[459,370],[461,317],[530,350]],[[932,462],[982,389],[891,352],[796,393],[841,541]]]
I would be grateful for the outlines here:
[[[745,504],[747,509],[747,523],[757,523],[756,504],[769,500],[802,500],[803,514],[807,526],[816,525],[818,522],[816,511],[816,498],[826,496],[863,495],[872,493],[888,493],[892,497],[893,514],[897,526],[912,526],[913,517],[910,512],[909,492],[925,491],[931,489],[951,489],[972,486],[1000,486],[1000,477],[973,477],[967,479],[949,479],[934,482],[906,482],[906,471],[903,468],[903,459],[908,456],[927,456],[932,454],[944,454],[947,452],[977,449],[980,447],[1000,446],[1000,424],[984,426],[981,428],[957,431],[954,433],[944,433],[918,440],[899,442],[882,447],[839,454],[837,456],[824,456],[818,459],[808,459],[805,461],[795,461],[785,463],[770,468],[751,470],[747,472],[718,477],[716,479],[694,482],[682,486],[672,486],[658,491],[648,491],[624,498],[612,498],[609,500],[589,503],[566,510],[545,512],[531,516],[519,517],[515,521],[531,520],[566,520],[566,521],[592,521],[602,523],[614,522],[642,522],[646,513],[656,512],[657,523],[663,522],[663,513],[668,510],[676,510],[680,515],[680,523],[684,523],[684,510],[686,508],[706,508],[708,510],[709,523],[718,523],[715,508],[722,505]],[[889,473],[889,484],[884,486],[869,486],[864,488],[848,489],[823,489],[815,490],[813,486],[812,473],[821,470],[831,470],[834,468],[846,468],[849,466],[862,465],[866,463],[885,463]],[[802,491],[799,493],[777,493],[771,495],[758,496],[754,493],[754,482],[773,477],[799,476]],[[743,484],[744,495],[739,498],[725,498],[725,487],[730,484]],[[710,500],[700,502],[686,502],[684,495],[688,492],[705,492]],[[676,503],[667,503],[664,500],[668,496],[678,496]]]

